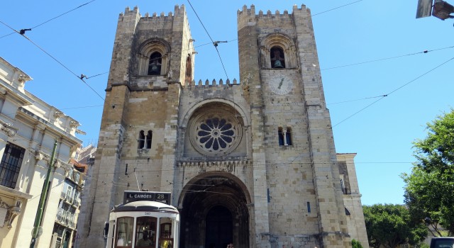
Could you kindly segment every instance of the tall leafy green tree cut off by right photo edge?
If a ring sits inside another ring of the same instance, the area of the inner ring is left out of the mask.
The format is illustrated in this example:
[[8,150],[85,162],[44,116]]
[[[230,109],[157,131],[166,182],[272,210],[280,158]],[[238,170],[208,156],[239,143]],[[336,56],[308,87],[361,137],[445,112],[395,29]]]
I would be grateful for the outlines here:
[[403,174],[405,203],[413,222],[439,227],[454,235],[454,110],[427,123],[428,135],[414,142],[416,161],[411,174]]

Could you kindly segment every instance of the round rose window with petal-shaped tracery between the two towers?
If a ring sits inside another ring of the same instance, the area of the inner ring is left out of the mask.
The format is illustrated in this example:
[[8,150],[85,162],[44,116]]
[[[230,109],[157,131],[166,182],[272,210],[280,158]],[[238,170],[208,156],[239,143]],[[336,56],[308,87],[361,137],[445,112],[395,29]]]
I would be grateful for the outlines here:
[[210,152],[222,152],[235,140],[236,130],[224,118],[209,118],[196,128],[196,140],[200,147]]

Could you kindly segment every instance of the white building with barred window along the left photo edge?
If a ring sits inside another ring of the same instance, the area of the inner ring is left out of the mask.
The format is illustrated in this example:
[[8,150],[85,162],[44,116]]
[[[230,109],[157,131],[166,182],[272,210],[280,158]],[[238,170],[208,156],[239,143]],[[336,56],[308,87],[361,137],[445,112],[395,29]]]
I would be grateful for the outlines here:
[[[48,169],[50,186],[35,247],[54,246],[65,178],[74,179],[70,159],[81,144],[75,136],[79,123],[26,91],[30,80],[0,57],[0,247],[30,247]],[[49,168],[55,141],[55,163]]]

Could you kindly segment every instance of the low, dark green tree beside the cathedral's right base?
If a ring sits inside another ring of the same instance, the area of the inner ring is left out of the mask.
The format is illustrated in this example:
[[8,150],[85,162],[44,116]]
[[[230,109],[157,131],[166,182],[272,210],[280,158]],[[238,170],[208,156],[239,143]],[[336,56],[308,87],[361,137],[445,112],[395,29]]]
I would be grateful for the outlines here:
[[411,222],[409,210],[403,205],[364,205],[362,209],[370,247],[415,245],[427,236],[426,226]]

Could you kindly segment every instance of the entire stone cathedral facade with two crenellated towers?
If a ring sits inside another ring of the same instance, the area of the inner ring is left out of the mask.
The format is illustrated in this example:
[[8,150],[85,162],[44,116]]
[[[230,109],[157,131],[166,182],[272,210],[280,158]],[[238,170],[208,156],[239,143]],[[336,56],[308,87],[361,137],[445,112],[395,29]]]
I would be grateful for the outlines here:
[[240,79],[219,81],[194,80],[184,6],[120,14],[79,247],[104,246],[109,210],[138,187],[172,193],[182,248],[367,247],[355,154],[336,154],[311,13],[291,12],[239,10]]

